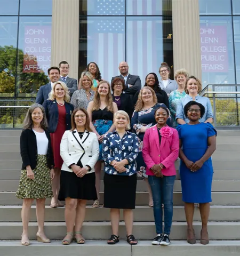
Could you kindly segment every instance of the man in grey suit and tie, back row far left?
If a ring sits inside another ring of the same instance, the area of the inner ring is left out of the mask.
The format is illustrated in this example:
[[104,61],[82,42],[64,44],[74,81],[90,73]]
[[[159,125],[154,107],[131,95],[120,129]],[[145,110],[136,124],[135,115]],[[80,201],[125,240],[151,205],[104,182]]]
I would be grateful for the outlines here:
[[69,73],[69,64],[67,61],[63,60],[59,63],[61,81],[64,82],[69,89],[70,96],[77,90],[77,80],[70,78]]

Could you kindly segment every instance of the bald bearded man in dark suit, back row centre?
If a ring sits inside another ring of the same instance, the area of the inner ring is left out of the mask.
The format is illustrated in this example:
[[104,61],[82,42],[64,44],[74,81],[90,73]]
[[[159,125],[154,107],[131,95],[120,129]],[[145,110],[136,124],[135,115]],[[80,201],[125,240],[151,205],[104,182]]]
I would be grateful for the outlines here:
[[121,75],[114,76],[113,78],[111,78],[111,82],[113,82],[114,78],[116,78],[116,77],[123,78],[125,81],[124,92],[127,94],[134,95],[142,87],[140,77],[129,74],[129,66],[127,65],[127,62],[125,62],[125,61],[122,61],[119,63],[118,69],[119,69]]

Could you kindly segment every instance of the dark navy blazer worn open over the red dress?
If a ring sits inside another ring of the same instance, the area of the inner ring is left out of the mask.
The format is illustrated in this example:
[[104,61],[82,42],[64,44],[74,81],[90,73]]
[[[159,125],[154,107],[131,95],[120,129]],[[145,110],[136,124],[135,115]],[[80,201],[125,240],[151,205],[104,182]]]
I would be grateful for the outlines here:
[[[66,130],[71,129],[71,114],[73,113],[74,106],[71,103],[65,102],[66,108]],[[43,102],[45,109],[47,122],[49,123],[48,131],[50,133],[55,132],[58,126],[58,103],[55,100],[45,100]]]

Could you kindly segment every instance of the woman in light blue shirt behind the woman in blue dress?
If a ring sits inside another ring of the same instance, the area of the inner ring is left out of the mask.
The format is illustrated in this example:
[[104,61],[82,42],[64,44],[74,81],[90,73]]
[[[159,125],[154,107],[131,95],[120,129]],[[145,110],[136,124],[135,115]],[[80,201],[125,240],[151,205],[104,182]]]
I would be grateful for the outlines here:
[[195,76],[189,76],[185,84],[185,92],[187,95],[178,102],[176,120],[178,124],[189,123],[188,117],[185,115],[184,107],[189,101],[196,101],[201,103],[205,112],[204,115],[199,119],[199,122],[212,123],[213,122],[213,111],[212,105],[207,97],[202,97],[198,93],[202,91],[202,83]]

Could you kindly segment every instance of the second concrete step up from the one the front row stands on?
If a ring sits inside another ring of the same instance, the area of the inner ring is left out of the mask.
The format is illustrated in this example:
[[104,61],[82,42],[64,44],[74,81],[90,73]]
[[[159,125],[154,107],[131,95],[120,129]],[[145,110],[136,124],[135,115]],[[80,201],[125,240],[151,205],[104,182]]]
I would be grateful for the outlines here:
[[[45,219],[46,222],[62,221],[64,222],[64,207],[51,209],[46,206]],[[36,206],[31,208],[30,221],[36,221]],[[136,206],[134,212],[134,221],[154,221],[153,209],[147,205]],[[121,220],[123,216],[121,213]],[[240,221],[240,205],[212,205],[210,210],[210,221]],[[21,221],[21,206],[0,206],[0,222],[1,221]],[[110,221],[109,209],[100,207],[98,209],[92,206],[86,207],[85,221]],[[186,221],[184,206],[173,206],[173,221]],[[200,212],[195,207],[194,221],[201,221]],[[1,235],[0,235],[1,236]]]

